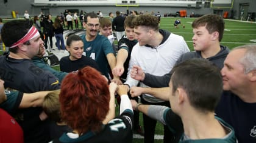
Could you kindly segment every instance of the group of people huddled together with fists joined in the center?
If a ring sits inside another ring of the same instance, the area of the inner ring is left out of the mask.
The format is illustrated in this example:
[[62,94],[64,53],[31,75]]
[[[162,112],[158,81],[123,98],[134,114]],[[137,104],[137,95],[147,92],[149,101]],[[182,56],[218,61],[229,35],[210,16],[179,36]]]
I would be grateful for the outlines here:
[[193,21],[193,52],[157,16],[138,15],[126,17],[115,53],[102,19],[87,13],[85,34],[68,36],[61,71],[43,61],[33,22],[4,24],[1,141],[132,142],[139,111],[145,143],[154,142],[157,121],[163,142],[256,141],[256,45],[220,45],[221,17]]

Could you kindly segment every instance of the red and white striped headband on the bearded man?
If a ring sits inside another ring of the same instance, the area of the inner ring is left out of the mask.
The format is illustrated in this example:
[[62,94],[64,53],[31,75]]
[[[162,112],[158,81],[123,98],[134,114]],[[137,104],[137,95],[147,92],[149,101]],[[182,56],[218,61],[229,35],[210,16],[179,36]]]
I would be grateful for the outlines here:
[[23,38],[21,38],[19,41],[15,42],[14,44],[11,45],[10,48],[14,48],[17,45],[23,44],[24,42],[29,41],[30,39],[33,39],[37,36],[39,36],[40,33],[38,32],[37,28],[35,28],[34,26],[32,26],[29,31],[27,32],[27,34],[25,36],[23,36]]

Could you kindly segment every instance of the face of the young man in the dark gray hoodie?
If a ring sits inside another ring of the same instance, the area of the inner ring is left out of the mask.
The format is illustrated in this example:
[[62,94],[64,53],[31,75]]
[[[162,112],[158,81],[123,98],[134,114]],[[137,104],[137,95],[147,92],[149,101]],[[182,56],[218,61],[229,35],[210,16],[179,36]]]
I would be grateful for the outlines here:
[[210,34],[205,26],[193,28],[193,46],[196,51],[203,51],[212,45],[213,33]]

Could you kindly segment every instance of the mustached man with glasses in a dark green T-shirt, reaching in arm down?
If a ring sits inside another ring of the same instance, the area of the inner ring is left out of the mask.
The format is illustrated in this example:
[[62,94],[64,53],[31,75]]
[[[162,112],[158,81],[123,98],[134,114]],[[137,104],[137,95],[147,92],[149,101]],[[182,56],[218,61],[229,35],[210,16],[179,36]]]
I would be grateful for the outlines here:
[[[113,54],[112,44],[105,36],[98,33],[100,26],[98,15],[87,13],[83,26],[86,29],[85,35],[81,36],[84,42],[84,55],[94,59],[99,65],[102,75],[110,79],[107,65],[109,64],[112,70],[116,66],[116,56]],[[113,80],[119,82],[118,77],[114,76]]]

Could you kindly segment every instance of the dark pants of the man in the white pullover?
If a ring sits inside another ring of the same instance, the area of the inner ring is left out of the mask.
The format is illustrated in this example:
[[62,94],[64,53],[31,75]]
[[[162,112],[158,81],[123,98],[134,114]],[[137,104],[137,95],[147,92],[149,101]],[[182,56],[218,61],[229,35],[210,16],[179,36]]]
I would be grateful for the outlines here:
[[[148,105],[164,105],[166,107],[170,107],[170,104],[168,101],[160,102],[160,103],[152,103],[152,102],[147,102],[143,98],[141,98],[141,103],[148,104]],[[143,114],[143,124],[144,124],[143,125],[144,126],[144,143],[154,143],[155,125],[157,124],[157,121]],[[163,142],[170,143],[173,141],[174,141],[174,135],[169,130],[169,128],[166,125],[164,125]]]

